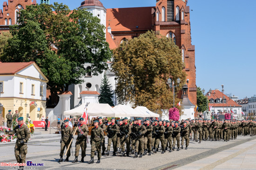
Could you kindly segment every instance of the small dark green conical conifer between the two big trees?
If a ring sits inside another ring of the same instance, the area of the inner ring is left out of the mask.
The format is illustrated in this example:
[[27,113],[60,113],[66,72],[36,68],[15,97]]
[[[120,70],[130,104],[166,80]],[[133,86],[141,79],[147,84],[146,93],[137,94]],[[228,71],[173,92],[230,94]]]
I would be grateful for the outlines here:
[[112,90],[111,85],[109,84],[109,81],[106,75],[104,75],[104,78],[101,81],[100,93],[101,93],[99,95],[100,103],[108,103],[110,106],[114,106],[114,103],[112,101],[114,92]]

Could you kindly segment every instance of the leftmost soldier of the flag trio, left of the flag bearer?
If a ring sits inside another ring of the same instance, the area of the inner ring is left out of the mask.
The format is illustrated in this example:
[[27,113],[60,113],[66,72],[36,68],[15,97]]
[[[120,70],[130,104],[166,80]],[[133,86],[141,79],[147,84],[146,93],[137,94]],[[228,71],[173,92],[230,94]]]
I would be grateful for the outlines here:
[[[71,139],[74,138],[72,132],[73,132],[73,129],[72,127],[68,126],[68,120],[64,120],[64,127],[61,129],[61,153],[60,153],[61,159],[59,160],[59,162],[63,161],[63,153],[65,150],[65,147],[67,148]],[[67,151],[67,158],[65,159],[65,162],[68,162],[68,157],[70,157],[71,145]]]

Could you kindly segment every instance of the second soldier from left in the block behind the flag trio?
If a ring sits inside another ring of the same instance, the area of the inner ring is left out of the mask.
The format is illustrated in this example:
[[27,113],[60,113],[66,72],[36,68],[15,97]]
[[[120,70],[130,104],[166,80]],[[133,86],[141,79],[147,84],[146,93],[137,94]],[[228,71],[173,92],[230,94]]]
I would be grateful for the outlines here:
[[125,149],[124,149],[124,145],[126,144],[126,156],[128,157],[129,156],[129,152],[130,152],[130,134],[132,132],[132,126],[130,124],[128,124],[128,118],[125,117],[123,119],[123,124],[120,126],[120,133],[122,135],[122,138],[121,138],[121,149],[122,149],[122,154],[121,154],[121,157],[125,157]]

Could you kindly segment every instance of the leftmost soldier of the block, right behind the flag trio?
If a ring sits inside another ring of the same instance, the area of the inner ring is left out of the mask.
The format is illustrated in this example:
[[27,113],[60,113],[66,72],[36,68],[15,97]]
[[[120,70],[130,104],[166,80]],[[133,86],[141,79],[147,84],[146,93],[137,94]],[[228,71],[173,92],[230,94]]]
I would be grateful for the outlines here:
[[111,118],[111,124],[108,125],[108,148],[107,156],[109,155],[110,145],[113,143],[113,156],[116,156],[116,142],[117,142],[117,133],[119,133],[119,127],[115,124],[115,118]]

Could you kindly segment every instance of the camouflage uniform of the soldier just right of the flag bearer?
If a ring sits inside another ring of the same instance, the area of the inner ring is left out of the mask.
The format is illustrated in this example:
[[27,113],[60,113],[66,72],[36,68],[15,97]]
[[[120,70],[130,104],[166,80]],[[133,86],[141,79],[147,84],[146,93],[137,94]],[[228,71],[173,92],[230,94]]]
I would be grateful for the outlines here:
[[98,152],[98,158],[101,158],[101,143],[104,142],[104,132],[100,126],[92,128],[91,132],[91,157],[94,157],[94,152]]

